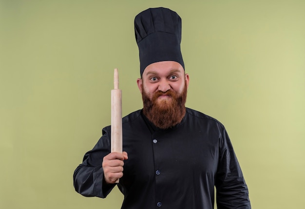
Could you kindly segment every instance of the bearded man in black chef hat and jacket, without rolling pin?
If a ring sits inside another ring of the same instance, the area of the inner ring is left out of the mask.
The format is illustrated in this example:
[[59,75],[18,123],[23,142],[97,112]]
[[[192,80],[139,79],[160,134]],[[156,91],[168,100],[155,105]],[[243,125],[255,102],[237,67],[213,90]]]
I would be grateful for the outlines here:
[[143,109],[123,118],[123,153],[110,153],[111,127],[103,129],[76,168],[76,191],[105,198],[117,185],[122,209],[213,209],[216,187],[218,209],[250,209],[224,126],[185,107],[189,75],[180,51],[180,17],[152,8],[134,24]]

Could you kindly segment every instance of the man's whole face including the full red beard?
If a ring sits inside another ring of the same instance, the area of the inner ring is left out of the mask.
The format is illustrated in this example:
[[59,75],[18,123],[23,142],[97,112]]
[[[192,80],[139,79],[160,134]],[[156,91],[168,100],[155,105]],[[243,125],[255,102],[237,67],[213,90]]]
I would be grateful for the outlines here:
[[143,114],[156,127],[168,129],[181,122],[186,112],[189,75],[185,75],[179,63],[153,63],[137,83],[142,93]]

